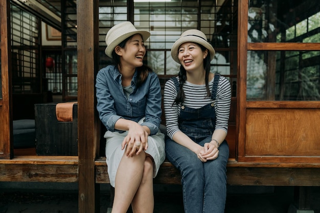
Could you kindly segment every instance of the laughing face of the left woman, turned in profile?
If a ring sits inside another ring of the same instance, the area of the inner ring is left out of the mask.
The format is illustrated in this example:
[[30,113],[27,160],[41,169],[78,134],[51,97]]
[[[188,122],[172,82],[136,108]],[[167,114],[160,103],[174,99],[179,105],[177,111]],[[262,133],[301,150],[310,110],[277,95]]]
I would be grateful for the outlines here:
[[140,67],[143,65],[143,57],[146,54],[144,41],[140,34],[133,35],[127,42],[124,48],[117,46],[116,53],[120,57],[122,65],[130,65]]

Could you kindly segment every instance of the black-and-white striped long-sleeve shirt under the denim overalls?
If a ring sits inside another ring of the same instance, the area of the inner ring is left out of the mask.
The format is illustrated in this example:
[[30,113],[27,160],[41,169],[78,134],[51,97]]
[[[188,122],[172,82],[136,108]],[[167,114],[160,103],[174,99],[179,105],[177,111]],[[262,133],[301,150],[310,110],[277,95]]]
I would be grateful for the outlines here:
[[[177,77],[178,79],[178,77]],[[178,79],[179,80],[179,79]],[[213,79],[209,82],[210,91],[212,90]],[[200,108],[204,105],[212,103],[210,97],[207,97],[207,89],[205,85],[196,85],[188,81],[182,86],[185,92],[184,105],[191,108]],[[173,135],[180,131],[178,127],[178,116],[180,113],[179,106],[173,102],[177,96],[177,91],[172,79],[168,80],[165,84],[164,90],[164,109],[166,114],[166,126],[168,136],[172,139]],[[225,132],[228,130],[228,120],[230,114],[231,104],[231,86],[230,82],[220,76],[217,88],[217,96],[214,101],[216,111],[216,127],[215,129],[223,129]]]

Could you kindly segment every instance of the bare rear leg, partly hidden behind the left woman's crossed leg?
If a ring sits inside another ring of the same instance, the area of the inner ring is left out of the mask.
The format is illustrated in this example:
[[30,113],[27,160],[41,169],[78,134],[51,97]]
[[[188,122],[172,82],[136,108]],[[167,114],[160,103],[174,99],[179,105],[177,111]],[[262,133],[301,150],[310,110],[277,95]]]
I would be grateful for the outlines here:
[[131,205],[133,213],[153,212],[153,162],[150,157],[146,157],[142,180]]

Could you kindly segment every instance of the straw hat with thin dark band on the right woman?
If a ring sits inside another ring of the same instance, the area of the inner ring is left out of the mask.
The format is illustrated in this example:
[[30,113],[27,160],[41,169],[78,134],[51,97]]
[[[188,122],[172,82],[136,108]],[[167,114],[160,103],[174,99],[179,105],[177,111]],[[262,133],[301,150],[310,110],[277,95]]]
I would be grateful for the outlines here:
[[212,59],[214,58],[216,52],[213,49],[212,45],[208,42],[207,37],[205,37],[204,33],[202,33],[199,30],[187,30],[181,34],[180,38],[176,40],[176,42],[174,42],[171,49],[171,56],[173,60],[175,60],[177,63],[180,63],[178,58],[179,46],[182,43],[186,43],[186,42],[194,42],[194,43],[201,44],[202,46],[204,46],[209,50],[210,57],[211,57],[210,61],[212,61]]

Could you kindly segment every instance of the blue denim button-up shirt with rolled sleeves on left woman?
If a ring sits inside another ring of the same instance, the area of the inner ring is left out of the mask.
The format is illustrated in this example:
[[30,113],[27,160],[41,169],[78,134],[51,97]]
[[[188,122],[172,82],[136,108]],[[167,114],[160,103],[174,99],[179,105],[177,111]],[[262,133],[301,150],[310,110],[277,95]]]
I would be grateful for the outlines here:
[[137,88],[135,72],[131,80],[133,92],[129,98],[123,91],[121,76],[118,67],[114,65],[102,68],[97,74],[97,110],[101,122],[109,131],[123,132],[115,129],[115,124],[120,118],[139,122],[145,117],[141,125],[147,126],[151,135],[156,134],[162,114],[158,76],[153,72],[149,73],[147,79]]

